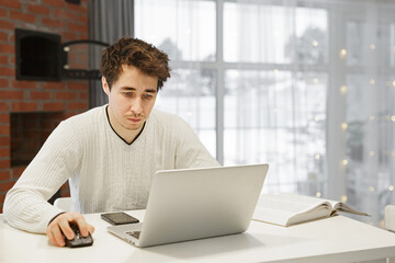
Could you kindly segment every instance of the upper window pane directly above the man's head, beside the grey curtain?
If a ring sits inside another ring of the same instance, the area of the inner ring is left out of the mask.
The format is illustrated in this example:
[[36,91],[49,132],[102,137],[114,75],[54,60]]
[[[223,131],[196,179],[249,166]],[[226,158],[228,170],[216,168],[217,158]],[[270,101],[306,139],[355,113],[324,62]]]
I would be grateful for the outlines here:
[[135,35],[171,60],[215,60],[215,2],[135,0]]

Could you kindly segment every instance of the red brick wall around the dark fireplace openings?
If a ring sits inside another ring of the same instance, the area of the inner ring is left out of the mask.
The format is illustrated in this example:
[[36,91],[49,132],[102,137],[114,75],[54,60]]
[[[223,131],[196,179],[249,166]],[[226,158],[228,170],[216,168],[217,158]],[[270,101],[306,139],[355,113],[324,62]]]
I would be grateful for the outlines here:
[[[11,165],[11,145],[21,139],[14,138],[12,142],[11,114],[57,112],[58,123],[88,110],[86,80],[15,79],[15,27],[59,34],[61,43],[88,39],[88,0],[81,0],[80,4],[65,0],[0,0],[0,213],[5,193],[25,169],[25,165]],[[69,195],[67,184],[61,187],[61,195]]]

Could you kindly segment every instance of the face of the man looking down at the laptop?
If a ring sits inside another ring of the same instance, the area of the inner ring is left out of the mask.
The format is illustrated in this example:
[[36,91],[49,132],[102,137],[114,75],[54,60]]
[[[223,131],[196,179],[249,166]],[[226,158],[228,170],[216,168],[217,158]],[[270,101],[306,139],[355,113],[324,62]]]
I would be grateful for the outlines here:
[[136,67],[123,66],[111,91],[104,77],[102,85],[109,96],[109,116],[115,132],[122,137],[131,132],[138,134],[154,107],[158,78],[145,75]]

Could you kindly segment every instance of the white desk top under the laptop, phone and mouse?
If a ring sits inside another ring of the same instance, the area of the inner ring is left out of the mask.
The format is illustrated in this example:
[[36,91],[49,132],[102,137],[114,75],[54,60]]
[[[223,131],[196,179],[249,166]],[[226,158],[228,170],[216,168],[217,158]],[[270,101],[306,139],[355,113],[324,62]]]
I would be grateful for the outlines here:
[[[131,211],[144,219],[144,210]],[[137,249],[106,232],[98,214],[88,248],[56,248],[44,235],[8,226],[0,215],[0,262],[358,262],[395,256],[395,235],[347,217],[290,228],[251,221],[246,233]],[[385,262],[385,260],[384,260]]]

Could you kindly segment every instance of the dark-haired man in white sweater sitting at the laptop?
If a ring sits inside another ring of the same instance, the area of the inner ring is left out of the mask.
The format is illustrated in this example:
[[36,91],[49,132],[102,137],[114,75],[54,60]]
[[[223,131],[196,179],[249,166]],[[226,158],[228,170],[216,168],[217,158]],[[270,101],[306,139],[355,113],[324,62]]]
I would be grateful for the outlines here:
[[[84,213],[145,208],[158,170],[216,167],[181,118],[153,111],[170,77],[168,56],[134,38],[121,38],[102,53],[102,88],[109,104],[61,122],[25,169],[4,202],[9,225],[46,232],[55,245],[94,228]],[[71,213],[46,201],[69,180]]]

